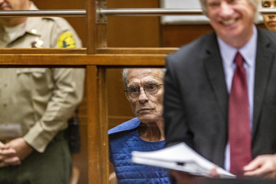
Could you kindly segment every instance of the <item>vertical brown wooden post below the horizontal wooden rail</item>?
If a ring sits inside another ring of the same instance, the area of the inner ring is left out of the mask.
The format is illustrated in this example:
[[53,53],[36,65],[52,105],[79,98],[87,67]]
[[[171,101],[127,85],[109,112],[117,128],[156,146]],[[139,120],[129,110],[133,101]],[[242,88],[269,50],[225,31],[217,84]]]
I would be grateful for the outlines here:
[[89,183],[108,183],[108,138],[104,69],[87,66]]

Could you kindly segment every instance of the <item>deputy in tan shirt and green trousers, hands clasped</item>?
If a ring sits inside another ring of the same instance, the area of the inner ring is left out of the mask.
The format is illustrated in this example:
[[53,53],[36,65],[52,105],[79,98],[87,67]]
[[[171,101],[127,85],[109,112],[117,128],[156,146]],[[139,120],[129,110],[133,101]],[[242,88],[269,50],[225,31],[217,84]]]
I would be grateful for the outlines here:
[[[0,0],[0,10],[35,10]],[[0,18],[0,47],[81,47],[63,18]],[[71,156],[63,130],[83,97],[84,69],[0,69],[0,183],[68,183]]]

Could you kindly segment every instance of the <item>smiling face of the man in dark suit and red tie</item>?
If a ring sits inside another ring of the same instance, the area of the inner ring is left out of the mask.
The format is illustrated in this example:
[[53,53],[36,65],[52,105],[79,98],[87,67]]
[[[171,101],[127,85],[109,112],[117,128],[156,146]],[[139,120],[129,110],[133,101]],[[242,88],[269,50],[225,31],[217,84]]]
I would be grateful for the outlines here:
[[206,0],[210,24],[218,37],[242,47],[253,34],[255,5],[249,0]]

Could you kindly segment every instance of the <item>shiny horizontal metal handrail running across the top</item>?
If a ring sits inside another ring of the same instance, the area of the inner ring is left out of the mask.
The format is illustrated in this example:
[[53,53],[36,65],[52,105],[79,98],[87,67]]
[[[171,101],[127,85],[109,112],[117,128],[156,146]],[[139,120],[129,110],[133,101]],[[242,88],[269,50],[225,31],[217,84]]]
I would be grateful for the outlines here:
[[[258,8],[260,14],[276,14],[276,8]],[[203,15],[202,9],[117,8],[99,9],[101,16]],[[0,11],[0,17],[86,16],[85,9]]]

